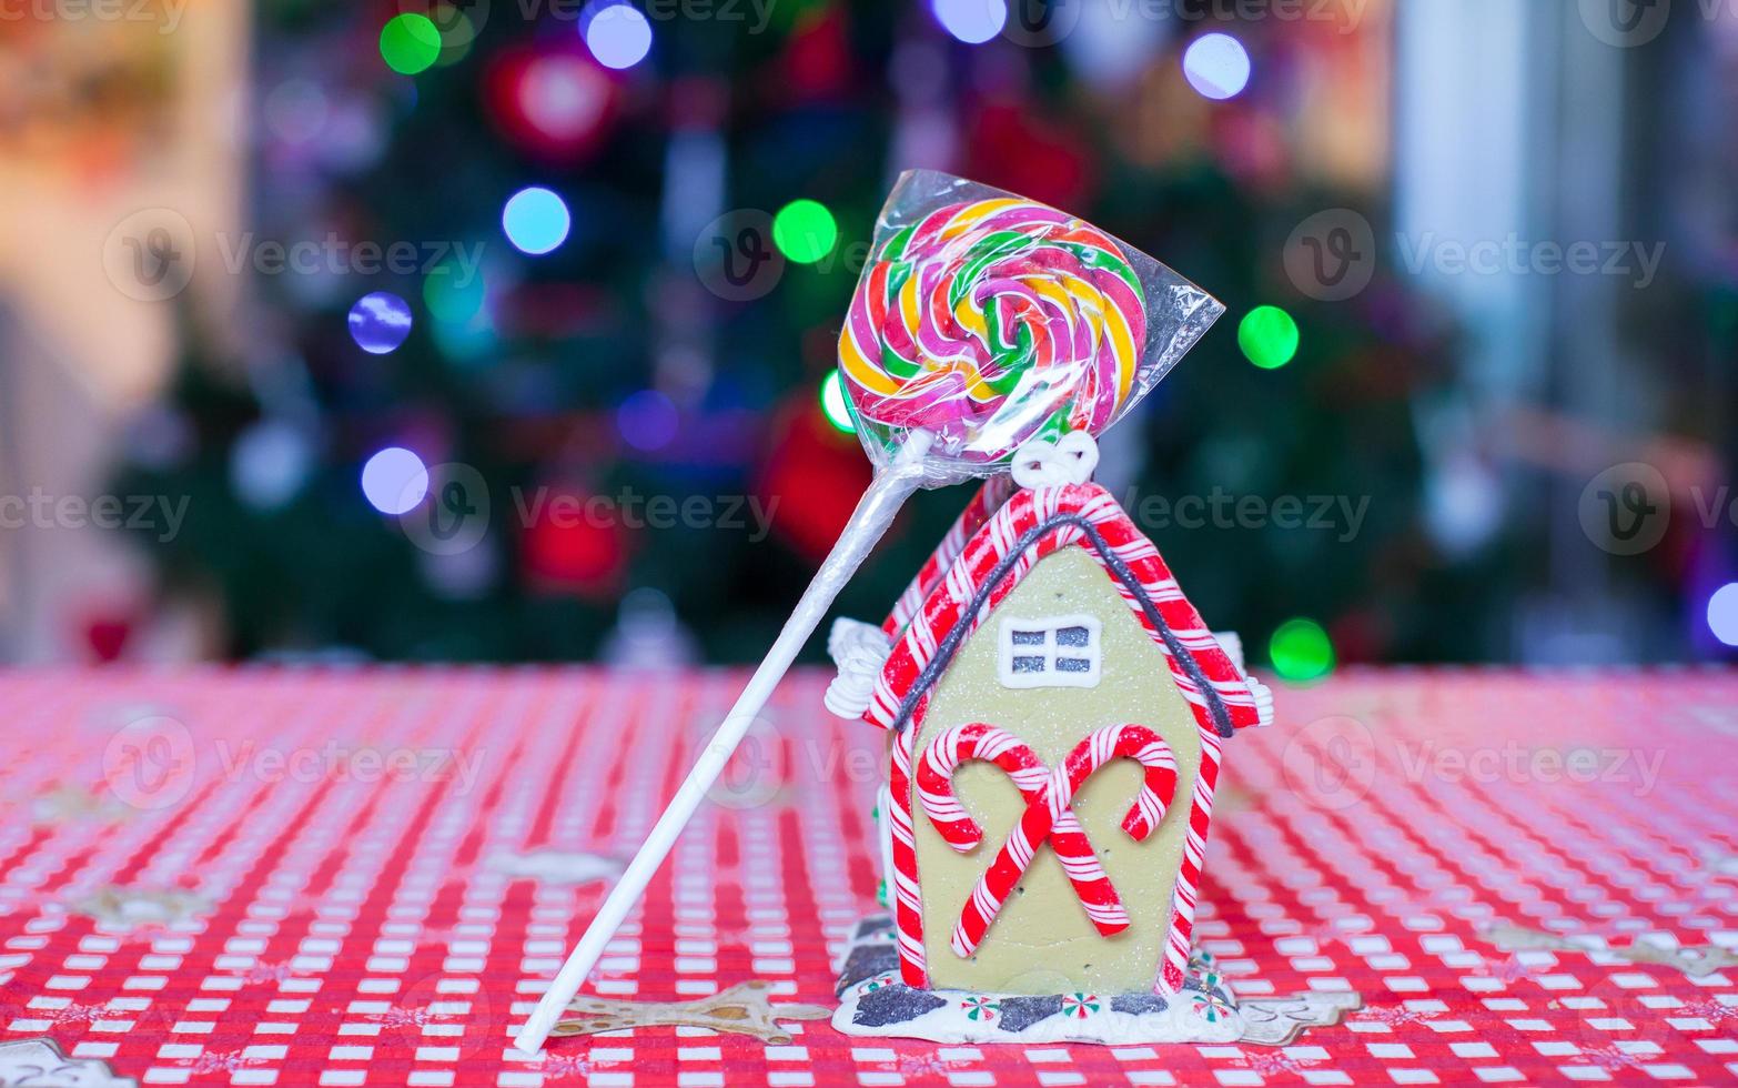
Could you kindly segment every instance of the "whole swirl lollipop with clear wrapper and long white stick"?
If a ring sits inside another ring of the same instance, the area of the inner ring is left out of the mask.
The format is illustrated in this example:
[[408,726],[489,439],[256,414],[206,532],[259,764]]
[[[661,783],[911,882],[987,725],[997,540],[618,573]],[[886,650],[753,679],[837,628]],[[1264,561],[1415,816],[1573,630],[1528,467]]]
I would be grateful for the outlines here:
[[900,176],[839,335],[876,474],[766,659],[700,751],[514,1043],[537,1052],[803,643],[919,487],[1006,471],[1034,440],[1100,435],[1225,311],[1098,228],[935,170]]

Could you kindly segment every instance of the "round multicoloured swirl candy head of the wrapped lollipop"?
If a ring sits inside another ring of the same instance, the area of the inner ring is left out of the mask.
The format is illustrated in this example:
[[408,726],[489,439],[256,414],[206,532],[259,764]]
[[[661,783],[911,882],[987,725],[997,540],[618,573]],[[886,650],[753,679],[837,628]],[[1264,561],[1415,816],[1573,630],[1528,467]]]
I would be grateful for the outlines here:
[[1104,231],[1017,198],[930,212],[886,240],[839,335],[864,431],[1006,461],[1027,440],[1098,433],[1135,389],[1140,278]]

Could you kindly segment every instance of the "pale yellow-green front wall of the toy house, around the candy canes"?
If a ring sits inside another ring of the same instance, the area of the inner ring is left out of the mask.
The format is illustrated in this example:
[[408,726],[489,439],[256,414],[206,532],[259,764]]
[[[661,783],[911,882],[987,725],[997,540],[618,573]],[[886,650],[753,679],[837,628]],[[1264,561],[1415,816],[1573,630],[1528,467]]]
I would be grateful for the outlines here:
[[[1104,624],[1104,673],[1097,688],[1008,690],[998,681],[996,629],[1005,615],[1039,619],[1090,614]],[[1130,914],[1130,926],[1100,937],[1074,897],[1050,846],[970,959],[949,945],[959,909],[989,867],[1025,805],[996,766],[972,761],[954,775],[966,812],[984,827],[984,841],[956,853],[930,824],[916,796],[918,879],[923,890],[923,940],[930,984],[937,989],[1057,994],[1116,994],[1151,989],[1170,930],[1171,888],[1189,826],[1189,799],[1201,766],[1196,720],[1177,690],[1164,653],[1152,645],[1109,575],[1079,547],[1046,556],[966,641],[930,699],[916,754],[956,725],[987,721],[1022,739],[1046,766],[1057,766],[1083,737],[1107,725],[1138,723],[1164,737],[1177,758],[1177,794],[1159,829],[1145,843],[1121,822],[1140,789],[1142,768],[1116,760],[1076,794],[1074,810]]]

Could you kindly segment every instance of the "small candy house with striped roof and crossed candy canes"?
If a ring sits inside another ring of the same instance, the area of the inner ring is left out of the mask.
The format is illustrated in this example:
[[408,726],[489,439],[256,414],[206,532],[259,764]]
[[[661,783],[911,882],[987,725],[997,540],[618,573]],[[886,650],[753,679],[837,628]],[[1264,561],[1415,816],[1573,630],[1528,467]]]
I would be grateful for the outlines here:
[[985,483],[886,622],[829,640],[829,709],[888,735],[904,987],[1164,996],[1191,975],[1220,749],[1272,699],[1071,478]]

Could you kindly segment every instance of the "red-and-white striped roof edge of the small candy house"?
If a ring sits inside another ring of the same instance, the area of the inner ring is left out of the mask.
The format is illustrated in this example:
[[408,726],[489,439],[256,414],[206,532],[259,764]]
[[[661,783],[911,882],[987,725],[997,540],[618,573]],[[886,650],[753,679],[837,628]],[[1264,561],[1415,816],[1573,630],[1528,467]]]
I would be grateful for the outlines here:
[[[1171,678],[1203,732],[1229,735],[1264,723],[1269,702],[1258,699],[1258,693],[1265,692],[1231,660],[1184,596],[1158,549],[1109,492],[1097,483],[1071,483],[1017,490],[1005,504],[999,502],[999,492],[1001,488],[985,485],[972,499],[954,530],[900,596],[885,624],[895,638],[893,650],[876,681],[874,697],[864,713],[866,721],[881,728],[921,723],[930,688],[947,662],[940,662],[937,669],[930,666],[954,629],[966,624],[961,636],[952,640],[952,650],[958,652],[965,638],[989,619],[1039,560],[1062,547],[1085,547],[1164,653]],[[1013,556],[1017,547],[1020,553]],[[998,580],[984,593],[991,579]],[[973,601],[978,601],[975,612]]]

